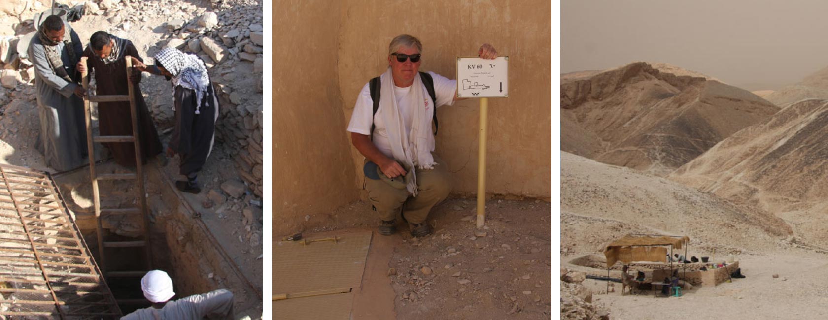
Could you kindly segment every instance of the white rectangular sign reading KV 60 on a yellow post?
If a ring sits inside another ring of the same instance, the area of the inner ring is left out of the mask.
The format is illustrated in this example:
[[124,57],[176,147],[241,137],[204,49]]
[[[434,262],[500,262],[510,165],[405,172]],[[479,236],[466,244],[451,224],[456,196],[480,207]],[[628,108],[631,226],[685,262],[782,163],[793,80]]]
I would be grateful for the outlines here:
[[508,97],[508,62],[508,56],[495,59],[457,57],[457,97]]

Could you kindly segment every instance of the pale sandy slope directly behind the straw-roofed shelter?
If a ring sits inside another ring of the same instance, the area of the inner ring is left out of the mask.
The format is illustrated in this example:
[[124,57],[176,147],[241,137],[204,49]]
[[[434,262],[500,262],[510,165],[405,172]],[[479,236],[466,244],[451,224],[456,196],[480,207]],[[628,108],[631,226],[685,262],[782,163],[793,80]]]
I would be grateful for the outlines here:
[[[669,179],[561,152],[561,256],[599,253],[628,233],[690,236],[691,255],[760,252],[790,235],[781,219]],[[561,258],[561,260],[566,260]]]

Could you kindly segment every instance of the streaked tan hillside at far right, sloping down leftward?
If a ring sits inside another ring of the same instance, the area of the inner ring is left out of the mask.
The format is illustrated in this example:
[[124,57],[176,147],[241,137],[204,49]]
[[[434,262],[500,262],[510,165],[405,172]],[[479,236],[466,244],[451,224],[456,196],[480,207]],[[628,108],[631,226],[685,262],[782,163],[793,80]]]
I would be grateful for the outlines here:
[[784,218],[802,241],[828,247],[828,100],[793,103],[669,176]]

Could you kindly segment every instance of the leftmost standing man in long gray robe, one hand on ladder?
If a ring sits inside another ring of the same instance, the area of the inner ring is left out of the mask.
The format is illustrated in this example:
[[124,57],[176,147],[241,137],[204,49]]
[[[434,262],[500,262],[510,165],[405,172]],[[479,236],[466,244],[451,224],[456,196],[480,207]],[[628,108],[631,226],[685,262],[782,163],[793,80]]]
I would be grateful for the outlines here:
[[84,97],[75,65],[83,55],[78,34],[58,16],[44,19],[29,45],[35,67],[41,132],[37,149],[46,165],[68,171],[84,165],[88,154]]

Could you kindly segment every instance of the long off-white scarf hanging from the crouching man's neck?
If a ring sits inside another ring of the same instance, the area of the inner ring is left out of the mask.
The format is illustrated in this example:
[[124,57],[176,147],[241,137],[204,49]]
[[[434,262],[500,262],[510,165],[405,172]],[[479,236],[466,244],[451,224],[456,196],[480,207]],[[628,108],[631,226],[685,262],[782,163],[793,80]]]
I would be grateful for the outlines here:
[[385,131],[388,134],[388,142],[391,144],[391,153],[395,160],[402,162],[406,170],[413,170],[410,181],[406,184],[408,193],[416,197],[418,190],[416,184],[417,169],[434,169],[434,157],[431,155],[431,146],[434,146],[434,135],[431,134],[431,118],[435,108],[433,103],[426,111],[423,98],[422,80],[420,74],[414,77],[414,83],[407,95],[408,105],[414,107],[412,110],[412,126],[410,132],[405,132],[405,123],[402,122],[397,97],[394,93],[394,79],[389,67],[380,76],[382,88],[380,91],[379,110],[383,111]]

